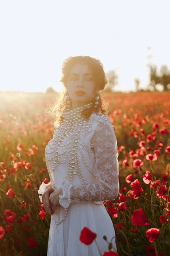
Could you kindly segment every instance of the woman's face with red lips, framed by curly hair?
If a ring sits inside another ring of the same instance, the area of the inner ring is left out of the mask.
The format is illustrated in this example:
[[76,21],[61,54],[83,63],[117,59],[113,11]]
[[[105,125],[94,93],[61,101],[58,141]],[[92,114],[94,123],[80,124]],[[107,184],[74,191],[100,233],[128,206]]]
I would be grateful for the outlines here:
[[[67,88],[72,102],[86,103],[96,96],[95,81],[87,64],[75,64],[69,74]],[[77,94],[80,90],[84,94]]]

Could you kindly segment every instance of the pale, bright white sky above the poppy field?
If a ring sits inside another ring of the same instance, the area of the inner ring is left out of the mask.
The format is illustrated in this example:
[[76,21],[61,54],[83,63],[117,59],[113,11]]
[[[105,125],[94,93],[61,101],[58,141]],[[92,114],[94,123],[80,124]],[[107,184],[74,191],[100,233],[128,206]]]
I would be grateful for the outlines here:
[[0,91],[61,91],[62,62],[77,55],[114,69],[115,91],[136,91],[135,78],[145,89],[148,63],[170,69],[169,10],[169,0],[0,0]]

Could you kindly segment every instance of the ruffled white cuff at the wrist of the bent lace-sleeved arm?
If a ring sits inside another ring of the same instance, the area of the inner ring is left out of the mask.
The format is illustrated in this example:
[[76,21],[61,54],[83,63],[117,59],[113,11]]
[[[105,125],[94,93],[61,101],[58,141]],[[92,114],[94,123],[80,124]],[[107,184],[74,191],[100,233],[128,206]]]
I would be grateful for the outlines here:
[[68,180],[65,180],[65,183],[60,186],[62,188],[62,195],[59,195],[59,204],[65,209],[68,208],[71,203],[70,189],[72,186],[73,185]]

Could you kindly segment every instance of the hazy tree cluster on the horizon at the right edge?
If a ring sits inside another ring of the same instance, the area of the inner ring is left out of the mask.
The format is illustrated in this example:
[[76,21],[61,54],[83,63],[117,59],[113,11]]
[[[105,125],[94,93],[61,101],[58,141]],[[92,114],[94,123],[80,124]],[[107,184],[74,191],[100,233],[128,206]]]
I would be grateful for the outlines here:
[[170,84],[170,70],[166,65],[162,65],[160,73],[157,73],[157,66],[150,66],[150,85],[156,91],[156,84],[161,84],[164,91],[168,91]]

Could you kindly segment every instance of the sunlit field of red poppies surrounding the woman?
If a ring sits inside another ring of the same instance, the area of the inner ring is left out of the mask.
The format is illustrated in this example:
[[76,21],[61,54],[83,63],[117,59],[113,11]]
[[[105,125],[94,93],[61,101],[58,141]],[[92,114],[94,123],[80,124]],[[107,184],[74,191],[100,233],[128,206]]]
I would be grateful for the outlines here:
[[[46,256],[51,216],[37,190],[49,182],[45,146],[54,94],[0,92],[0,256]],[[170,92],[101,93],[119,152],[119,196],[105,202],[116,233],[104,256],[170,255]],[[89,246],[97,234],[85,228]]]

